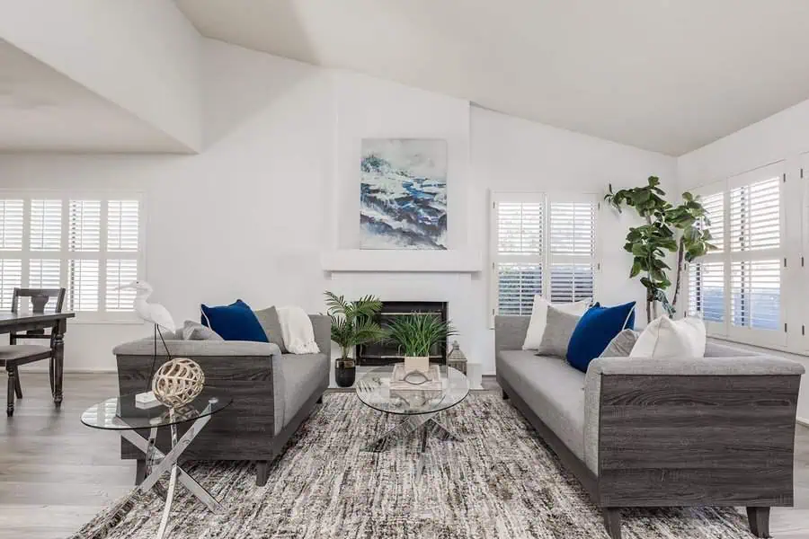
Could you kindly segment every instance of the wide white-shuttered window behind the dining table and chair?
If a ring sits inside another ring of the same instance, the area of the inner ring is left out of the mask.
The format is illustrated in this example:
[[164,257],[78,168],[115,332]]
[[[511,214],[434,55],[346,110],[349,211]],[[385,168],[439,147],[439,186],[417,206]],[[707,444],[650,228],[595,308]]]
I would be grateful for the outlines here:
[[117,288],[142,273],[140,219],[138,196],[0,192],[0,310],[14,287],[65,287],[80,319],[130,312],[133,291]]

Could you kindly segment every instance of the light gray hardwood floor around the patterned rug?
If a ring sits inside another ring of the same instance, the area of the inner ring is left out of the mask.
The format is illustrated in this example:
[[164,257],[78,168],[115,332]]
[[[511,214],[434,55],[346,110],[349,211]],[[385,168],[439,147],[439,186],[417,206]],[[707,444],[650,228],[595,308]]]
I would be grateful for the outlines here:
[[[498,389],[489,376],[484,387]],[[119,438],[79,421],[85,408],[117,389],[111,374],[67,374],[56,411],[47,375],[22,373],[25,396],[12,419],[0,419],[0,539],[65,537],[132,488],[135,464],[120,460]],[[776,539],[809,538],[809,429],[801,426],[795,494],[795,508],[773,509]]]

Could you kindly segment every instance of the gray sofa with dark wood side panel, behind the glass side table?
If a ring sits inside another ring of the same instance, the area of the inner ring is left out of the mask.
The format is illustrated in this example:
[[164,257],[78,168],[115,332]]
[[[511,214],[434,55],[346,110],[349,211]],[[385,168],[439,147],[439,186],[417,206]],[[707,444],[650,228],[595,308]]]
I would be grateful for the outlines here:
[[[311,315],[319,354],[281,354],[275,344],[234,340],[166,340],[173,357],[191,358],[205,373],[206,387],[233,397],[182,454],[184,460],[236,460],[257,463],[256,484],[267,482],[268,463],[280,455],[300,424],[329,385],[331,321]],[[118,361],[120,393],[138,393],[147,386],[154,340],[121,344],[113,350]],[[158,341],[157,365],[167,360]],[[188,429],[181,426],[180,435]],[[170,448],[168,429],[157,445]],[[147,432],[141,432],[147,437]],[[121,441],[121,458],[138,459],[136,482],[143,481],[143,453]]]

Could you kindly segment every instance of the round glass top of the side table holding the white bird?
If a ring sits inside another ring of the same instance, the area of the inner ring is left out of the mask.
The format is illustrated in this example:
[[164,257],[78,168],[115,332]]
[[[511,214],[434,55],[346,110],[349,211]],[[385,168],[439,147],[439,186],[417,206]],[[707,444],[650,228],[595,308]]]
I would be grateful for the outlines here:
[[233,399],[224,393],[203,389],[197,398],[185,406],[171,410],[163,404],[139,408],[135,393],[112,397],[93,404],[82,414],[82,423],[93,429],[131,430],[166,427],[198,420],[225,409]]

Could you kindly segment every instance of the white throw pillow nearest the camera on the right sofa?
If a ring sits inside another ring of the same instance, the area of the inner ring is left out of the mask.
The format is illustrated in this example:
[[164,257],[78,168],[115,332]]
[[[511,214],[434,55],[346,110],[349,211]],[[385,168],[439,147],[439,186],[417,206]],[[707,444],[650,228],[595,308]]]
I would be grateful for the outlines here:
[[630,358],[703,358],[705,323],[688,316],[671,320],[661,316],[646,326],[629,352]]

